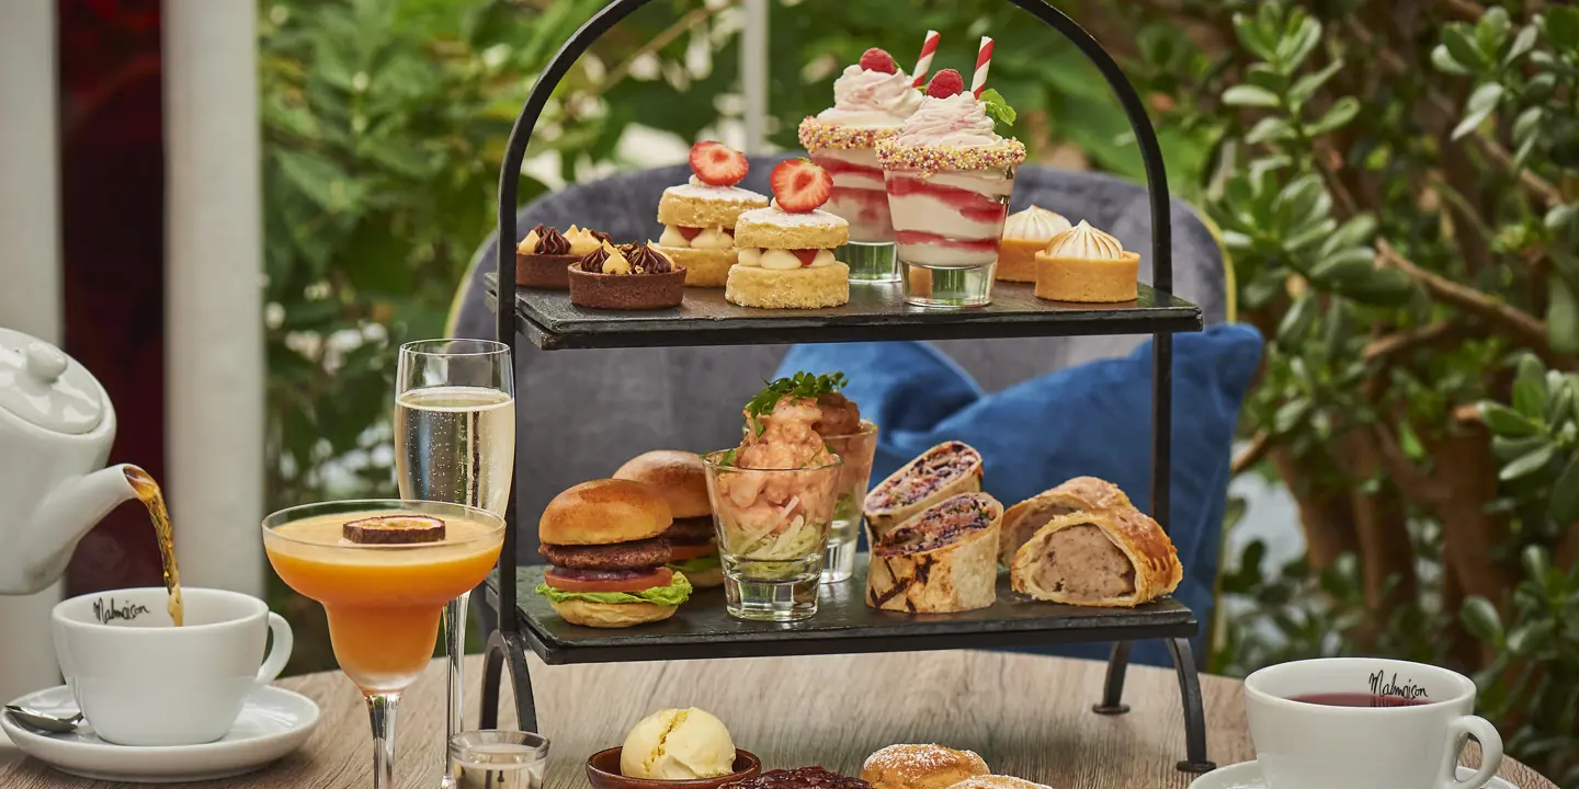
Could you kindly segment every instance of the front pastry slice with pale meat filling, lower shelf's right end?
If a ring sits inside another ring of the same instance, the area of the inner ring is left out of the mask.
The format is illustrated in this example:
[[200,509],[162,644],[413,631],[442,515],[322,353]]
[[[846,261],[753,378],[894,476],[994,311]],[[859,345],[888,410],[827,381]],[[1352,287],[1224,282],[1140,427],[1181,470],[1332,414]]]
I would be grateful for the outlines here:
[[1173,592],[1183,576],[1173,541],[1135,508],[1053,518],[1009,567],[1015,592],[1071,606],[1134,608]]

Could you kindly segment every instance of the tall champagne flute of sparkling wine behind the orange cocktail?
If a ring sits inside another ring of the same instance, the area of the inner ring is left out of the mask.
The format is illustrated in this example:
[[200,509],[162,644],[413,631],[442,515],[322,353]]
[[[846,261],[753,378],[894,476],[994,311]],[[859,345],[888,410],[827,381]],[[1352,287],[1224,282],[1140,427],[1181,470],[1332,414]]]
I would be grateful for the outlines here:
[[[504,516],[515,477],[515,368],[491,339],[422,339],[395,372],[395,473],[401,499],[450,502]],[[461,660],[467,595],[444,608],[450,661],[448,737],[466,731]],[[453,786],[445,759],[444,786]]]

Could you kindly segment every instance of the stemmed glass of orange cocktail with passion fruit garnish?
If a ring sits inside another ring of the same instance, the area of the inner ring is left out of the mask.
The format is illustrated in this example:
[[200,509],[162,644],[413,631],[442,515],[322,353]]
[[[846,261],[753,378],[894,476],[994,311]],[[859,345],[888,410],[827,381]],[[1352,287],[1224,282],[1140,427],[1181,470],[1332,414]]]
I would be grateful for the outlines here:
[[[437,518],[445,522],[444,540],[341,538],[349,521],[390,514]],[[325,502],[264,519],[268,563],[286,585],[324,604],[335,660],[368,701],[374,789],[395,786],[395,709],[433,658],[444,604],[488,576],[502,543],[502,518],[444,502]]]

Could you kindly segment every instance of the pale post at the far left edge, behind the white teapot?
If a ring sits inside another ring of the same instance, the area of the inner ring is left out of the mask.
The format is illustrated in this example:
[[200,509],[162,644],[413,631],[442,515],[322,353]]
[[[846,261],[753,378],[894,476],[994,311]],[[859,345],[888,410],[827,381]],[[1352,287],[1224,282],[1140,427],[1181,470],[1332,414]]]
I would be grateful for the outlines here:
[[[60,344],[55,95],[55,3],[0,2],[0,327]],[[0,702],[60,682],[49,634],[58,600],[60,584],[0,595]]]

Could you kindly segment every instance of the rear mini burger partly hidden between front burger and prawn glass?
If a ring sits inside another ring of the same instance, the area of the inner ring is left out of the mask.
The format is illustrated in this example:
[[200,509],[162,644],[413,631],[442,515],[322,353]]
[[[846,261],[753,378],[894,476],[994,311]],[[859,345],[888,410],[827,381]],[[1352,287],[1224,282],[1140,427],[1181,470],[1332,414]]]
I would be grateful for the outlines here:
[[717,532],[712,530],[712,500],[707,499],[707,469],[701,456],[674,450],[649,451],[621,466],[614,478],[644,483],[669,503],[674,524],[663,532],[669,541],[669,570],[685,573],[696,589],[723,584]]

